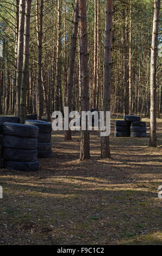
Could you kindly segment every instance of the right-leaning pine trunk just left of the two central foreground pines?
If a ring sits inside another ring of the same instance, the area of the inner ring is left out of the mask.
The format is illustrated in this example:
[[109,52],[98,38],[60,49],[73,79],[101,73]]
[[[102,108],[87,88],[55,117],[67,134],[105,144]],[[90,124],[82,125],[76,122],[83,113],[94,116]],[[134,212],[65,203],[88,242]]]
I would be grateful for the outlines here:
[[[71,35],[69,63],[68,63],[68,77],[67,77],[67,92],[65,106],[68,107],[69,112],[72,110],[72,88],[73,88],[73,74],[74,62],[76,57],[76,44],[77,44],[77,31],[78,31],[78,0],[74,6],[73,27]],[[65,141],[71,139],[71,130],[65,131]]]

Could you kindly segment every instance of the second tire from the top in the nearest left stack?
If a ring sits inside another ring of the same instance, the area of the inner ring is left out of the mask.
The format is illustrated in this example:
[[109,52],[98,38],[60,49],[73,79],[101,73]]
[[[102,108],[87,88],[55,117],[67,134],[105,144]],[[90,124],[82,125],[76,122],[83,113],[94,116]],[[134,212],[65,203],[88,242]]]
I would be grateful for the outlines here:
[[38,139],[4,135],[3,147],[13,149],[35,150],[38,147]]

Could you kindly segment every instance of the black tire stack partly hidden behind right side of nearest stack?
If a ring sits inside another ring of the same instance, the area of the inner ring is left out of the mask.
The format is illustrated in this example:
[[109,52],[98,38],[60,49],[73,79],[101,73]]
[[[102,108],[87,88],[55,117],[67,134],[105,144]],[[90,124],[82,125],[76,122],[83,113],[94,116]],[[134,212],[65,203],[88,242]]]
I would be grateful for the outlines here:
[[38,136],[38,158],[48,158],[52,156],[51,132],[52,124],[41,120],[26,120],[25,124],[39,127]]

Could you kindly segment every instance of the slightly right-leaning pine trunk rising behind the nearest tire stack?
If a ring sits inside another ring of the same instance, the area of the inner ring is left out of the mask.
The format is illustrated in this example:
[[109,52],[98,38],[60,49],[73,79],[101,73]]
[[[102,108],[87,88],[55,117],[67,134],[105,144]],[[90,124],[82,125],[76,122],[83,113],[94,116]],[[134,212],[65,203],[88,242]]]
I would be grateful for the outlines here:
[[20,95],[20,123],[23,124],[26,119],[27,106],[27,86],[29,83],[29,42],[30,42],[30,11],[32,0],[26,1],[26,16],[24,22],[24,57],[23,57],[23,73]]

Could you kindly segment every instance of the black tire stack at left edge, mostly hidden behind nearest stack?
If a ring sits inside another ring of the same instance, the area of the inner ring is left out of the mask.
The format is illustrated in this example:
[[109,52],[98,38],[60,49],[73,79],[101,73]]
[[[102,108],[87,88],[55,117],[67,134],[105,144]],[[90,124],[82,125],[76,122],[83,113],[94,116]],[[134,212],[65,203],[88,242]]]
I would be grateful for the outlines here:
[[0,168],[3,167],[3,158],[2,158],[2,149],[3,149],[3,130],[2,126],[5,122],[10,122],[10,123],[19,123],[20,118],[18,117],[10,117],[10,116],[2,116],[0,117]]

